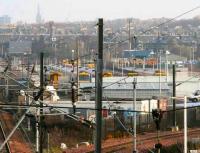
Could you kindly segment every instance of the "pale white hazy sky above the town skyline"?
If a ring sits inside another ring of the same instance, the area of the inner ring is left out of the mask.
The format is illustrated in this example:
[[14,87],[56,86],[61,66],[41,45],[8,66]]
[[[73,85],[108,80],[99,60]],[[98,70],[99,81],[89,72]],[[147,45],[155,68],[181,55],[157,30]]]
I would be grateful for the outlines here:
[[[35,22],[39,3],[45,21],[89,21],[116,18],[173,18],[194,7],[200,0],[0,0],[0,16],[12,22]],[[200,8],[182,18],[200,15]]]

